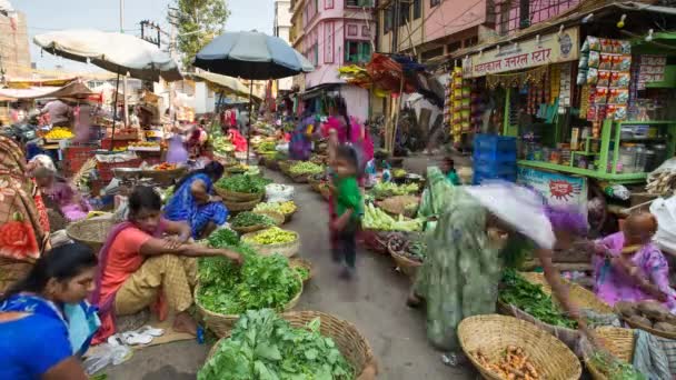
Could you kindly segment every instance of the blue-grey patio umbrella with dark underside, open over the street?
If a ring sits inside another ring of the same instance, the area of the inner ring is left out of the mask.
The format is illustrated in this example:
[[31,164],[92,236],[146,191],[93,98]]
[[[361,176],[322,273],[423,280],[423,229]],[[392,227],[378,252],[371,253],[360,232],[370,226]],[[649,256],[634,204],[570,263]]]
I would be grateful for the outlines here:
[[254,80],[279,79],[315,70],[312,63],[286,41],[257,31],[225,32],[197,53],[193,66],[251,81],[247,161],[249,160],[251,114],[254,113],[251,112]]

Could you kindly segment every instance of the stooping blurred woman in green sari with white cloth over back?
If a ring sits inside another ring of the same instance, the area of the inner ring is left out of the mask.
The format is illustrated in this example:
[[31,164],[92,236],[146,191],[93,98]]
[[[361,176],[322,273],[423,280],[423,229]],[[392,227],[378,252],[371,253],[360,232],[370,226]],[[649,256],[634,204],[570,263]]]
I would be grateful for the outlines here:
[[[433,346],[459,351],[458,323],[470,316],[495,312],[504,267],[499,253],[507,242],[505,232],[509,232],[509,239],[526,236],[539,247],[536,253],[555,296],[576,318],[577,309],[569,302],[547,254],[556,238],[541,202],[539,207],[534,203],[535,194],[506,184],[500,184],[503,189],[453,187],[438,168],[428,169],[427,180],[420,213],[438,220],[436,228],[426,229],[427,257],[408,303],[417,306],[425,299],[427,336]],[[530,198],[525,199],[528,193]],[[518,210],[518,216],[511,216],[510,210]],[[564,226],[564,230],[568,229]]]

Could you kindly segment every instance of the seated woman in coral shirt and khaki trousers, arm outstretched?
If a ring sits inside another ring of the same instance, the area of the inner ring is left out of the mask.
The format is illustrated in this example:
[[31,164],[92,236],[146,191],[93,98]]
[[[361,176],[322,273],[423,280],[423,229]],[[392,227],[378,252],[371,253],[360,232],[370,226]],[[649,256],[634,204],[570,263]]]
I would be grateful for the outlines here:
[[110,231],[99,253],[101,263],[92,293],[102,322],[97,342],[115,333],[113,313],[135,314],[153,304],[160,294],[160,317],[166,311],[166,299],[176,312],[173,329],[196,334],[197,323],[188,311],[197,280],[196,258],[222,256],[241,263],[236,252],[188,243],[190,227],[162,219],[161,204],[152,188],[137,187],[129,197],[129,220]]

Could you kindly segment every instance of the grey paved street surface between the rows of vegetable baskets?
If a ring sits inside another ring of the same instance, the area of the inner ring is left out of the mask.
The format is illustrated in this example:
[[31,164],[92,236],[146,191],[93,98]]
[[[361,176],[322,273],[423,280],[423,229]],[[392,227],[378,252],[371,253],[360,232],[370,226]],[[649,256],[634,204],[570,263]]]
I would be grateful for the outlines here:
[[[277,182],[286,181],[276,172],[268,177]],[[466,368],[444,366],[440,353],[428,344],[424,316],[406,308],[408,280],[395,271],[391,260],[360,251],[358,278],[352,282],[339,280],[327,244],[327,204],[307,184],[297,187],[295,200],[300,209],[286,228],[300,233],[300,256],[310,260],[318,272],[305,289],[297,309],[320,310],[355,323],[378,359],[379,379],[473,378]],[[108,374],[113,380],[195,379],[206,352],[205,347],[193,342],[148,348]]]

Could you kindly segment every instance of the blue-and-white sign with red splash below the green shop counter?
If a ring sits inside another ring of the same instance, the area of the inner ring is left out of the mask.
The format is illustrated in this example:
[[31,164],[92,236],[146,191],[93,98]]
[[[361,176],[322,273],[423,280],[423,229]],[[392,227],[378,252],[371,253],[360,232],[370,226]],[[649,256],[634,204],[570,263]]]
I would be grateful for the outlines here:
[[541,194],[550,206],[566,206],[587,214],[587,179],[585,177],[519,167],[517,182]]

